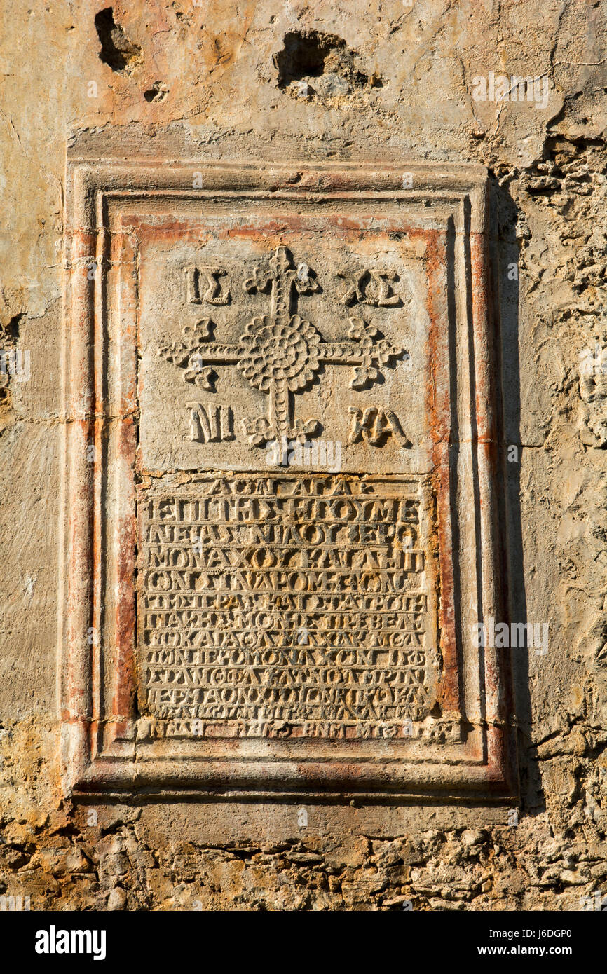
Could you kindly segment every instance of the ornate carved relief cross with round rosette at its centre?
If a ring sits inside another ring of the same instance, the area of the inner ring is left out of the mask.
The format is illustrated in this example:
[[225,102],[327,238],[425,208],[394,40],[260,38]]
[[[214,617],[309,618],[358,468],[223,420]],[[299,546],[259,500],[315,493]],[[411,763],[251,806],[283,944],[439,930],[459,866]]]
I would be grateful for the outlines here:
[[210,341],[211,321],[203,318],[194,326],[186,325],[182,339],[162,346],[158,354],[184,368],[186,382],[208,391],[214,386],[213,366],[235,364],[251,386],[268,393],[267,416],[243,420],[254,446],[284,439],[303,442],[318,435],[318,420],[294,418],[293,393],[310,385],[322,363],[354,365],[350,387],[364,389],[379,377],[381,365],[402,354],[358,316],[349,319],[348,339],[324,342],[317,328],[297,313],[299,295],[320,291],[319,282],[306,264],[295,268],[285,246],[277,246],[265,266],[255,267],[245,288],[249,293],[270,288],[270,308],[267,315],[247,322],[238,342]]

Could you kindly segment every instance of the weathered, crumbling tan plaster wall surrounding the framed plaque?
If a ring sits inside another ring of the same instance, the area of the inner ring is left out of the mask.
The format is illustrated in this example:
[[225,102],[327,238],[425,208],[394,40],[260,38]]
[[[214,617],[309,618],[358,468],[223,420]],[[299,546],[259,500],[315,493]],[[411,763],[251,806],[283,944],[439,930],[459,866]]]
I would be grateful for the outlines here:
[[[0,14],[0,347],[30,362],[28,381],[0,376],[0,893],[29,895],[32,909],[135,910],[575,910],[607,895],[607,379],[600,362],[582,367],[585,349],[596,359],[607,345],[604,8],[133,0],[96,16],[105,9],[32,0]],[[550,91],[474,100],[474,77],[491,71]],[[507,808],[319,805],[303,825],[292,805],[61,799],[62,184],[75,142],[490,170],[511,612],[550,624],[547,656],[513,652],[518,824]]]

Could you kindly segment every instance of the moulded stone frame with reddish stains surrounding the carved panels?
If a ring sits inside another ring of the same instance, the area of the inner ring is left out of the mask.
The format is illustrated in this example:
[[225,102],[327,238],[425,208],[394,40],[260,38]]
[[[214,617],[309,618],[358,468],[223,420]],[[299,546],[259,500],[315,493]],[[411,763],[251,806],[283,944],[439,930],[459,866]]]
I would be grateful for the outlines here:
[[[193,189],[193,172],[199,178]],[[403,180],[403,177],[404,180]],[[413,188],[405,188],[412,182]],[[427,408],[439,565],[440,716],[410,741],[146,739],[136,710],[135,211],[197,202],[397,206],[425,236]],[[504,618],[488,188],[478,167],[69,159],[65,205],[58,685],[68,793],[511,801],[510,664],[472,624]],[[87,273],[87,269],[94,273]],[[98,269],[98,271],[95,271]],[[474,611],[471,610],[474,607]]]

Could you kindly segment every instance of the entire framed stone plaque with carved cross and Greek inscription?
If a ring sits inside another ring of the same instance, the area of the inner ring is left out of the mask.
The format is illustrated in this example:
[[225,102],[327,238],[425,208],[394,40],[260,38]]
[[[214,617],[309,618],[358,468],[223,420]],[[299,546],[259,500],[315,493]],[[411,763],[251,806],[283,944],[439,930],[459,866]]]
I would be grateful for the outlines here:
[[484,170],[67,185],[66,789],[503,801]]

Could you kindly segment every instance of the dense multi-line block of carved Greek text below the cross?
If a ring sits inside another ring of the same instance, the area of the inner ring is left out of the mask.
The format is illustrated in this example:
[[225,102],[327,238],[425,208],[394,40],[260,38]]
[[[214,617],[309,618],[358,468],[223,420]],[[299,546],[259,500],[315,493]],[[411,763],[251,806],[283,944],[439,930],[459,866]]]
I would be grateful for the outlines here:
[[144,503],[139,642],[158,732],[406,736],[429,706],[415,485],[246,474],[197,488]]

